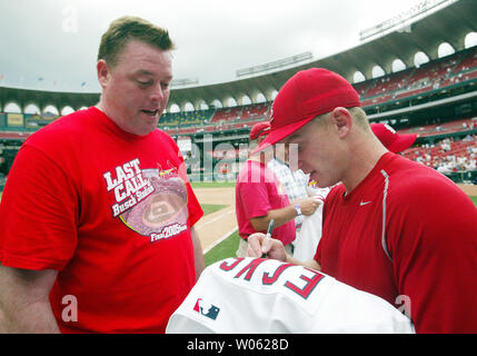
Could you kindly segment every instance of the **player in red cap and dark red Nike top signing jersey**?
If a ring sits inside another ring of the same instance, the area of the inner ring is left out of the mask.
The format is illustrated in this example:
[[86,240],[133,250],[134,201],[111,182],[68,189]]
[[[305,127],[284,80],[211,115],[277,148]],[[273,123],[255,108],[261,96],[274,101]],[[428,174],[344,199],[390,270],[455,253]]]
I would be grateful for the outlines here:
[[[369,128],[352,86],[312,68],[296,73],[274,102],[259,149],[298,146],[298,168],[319,187],[338,185],[324,207],[315,259],[357,289],[401,306],[418,333],[477,333],[477,209],[449,179],[395,155]],[[256,234],[249,256],[297,263]]]

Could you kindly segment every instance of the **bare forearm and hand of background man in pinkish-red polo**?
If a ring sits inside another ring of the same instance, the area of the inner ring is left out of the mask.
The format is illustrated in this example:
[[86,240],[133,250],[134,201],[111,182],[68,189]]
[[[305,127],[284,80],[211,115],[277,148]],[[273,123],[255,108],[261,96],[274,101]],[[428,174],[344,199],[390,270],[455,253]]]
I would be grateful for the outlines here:
[[[321,201],[311,198],[305,198],[296,200],[295,204],[300,206],[302,215],[310,216],[315,212]],[[295,204],[289,205],[285,208],[269,210],[266,216],[250,218],[250,224],[257,231],[267,230],[268,224],[271,219],[275,220],[276,227],[287,224],[288,221],[297,217]]]

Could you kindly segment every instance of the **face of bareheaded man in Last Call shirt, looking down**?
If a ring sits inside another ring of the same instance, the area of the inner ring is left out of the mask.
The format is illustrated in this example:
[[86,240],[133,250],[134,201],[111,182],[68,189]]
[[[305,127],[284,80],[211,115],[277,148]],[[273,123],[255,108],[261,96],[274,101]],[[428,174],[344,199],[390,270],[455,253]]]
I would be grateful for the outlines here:
[[157,128],[170,95],[172,61],[169,51],[130,40],[111,68],[98,62],[101,109],[121,129],[145,136]]

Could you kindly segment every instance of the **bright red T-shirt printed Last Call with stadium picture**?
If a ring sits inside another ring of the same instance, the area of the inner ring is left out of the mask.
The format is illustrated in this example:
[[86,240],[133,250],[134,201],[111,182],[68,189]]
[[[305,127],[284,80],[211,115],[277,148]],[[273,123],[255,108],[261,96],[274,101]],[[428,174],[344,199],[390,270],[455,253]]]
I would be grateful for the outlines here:
[[[63,333],[162,333],[196,281],[202,216],[176,142],[122,131],[92,107],[21,147],[0,206],[0,260],[59,270]],[[62,312],[77,305],[77,322]]]

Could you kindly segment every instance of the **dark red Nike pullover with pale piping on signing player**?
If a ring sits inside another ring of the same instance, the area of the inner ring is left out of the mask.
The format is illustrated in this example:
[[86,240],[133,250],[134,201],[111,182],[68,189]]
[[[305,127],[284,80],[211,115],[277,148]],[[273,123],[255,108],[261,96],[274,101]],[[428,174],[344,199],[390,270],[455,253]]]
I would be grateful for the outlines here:
[[386,154],[344,195],[325,202],[321,270],[410,312],[418,333],[477,333],[477,209],[460,188]]

